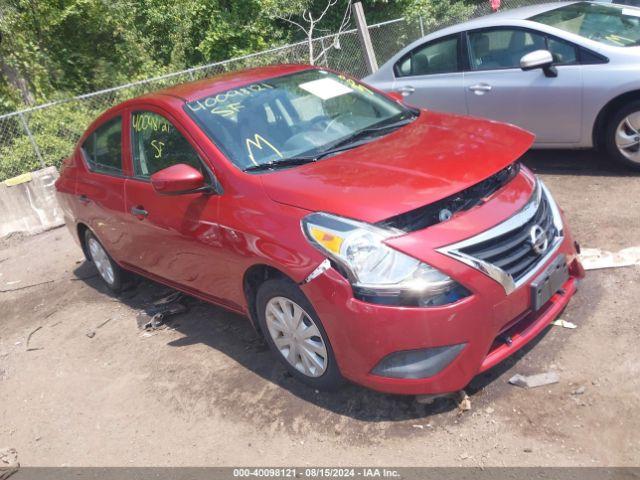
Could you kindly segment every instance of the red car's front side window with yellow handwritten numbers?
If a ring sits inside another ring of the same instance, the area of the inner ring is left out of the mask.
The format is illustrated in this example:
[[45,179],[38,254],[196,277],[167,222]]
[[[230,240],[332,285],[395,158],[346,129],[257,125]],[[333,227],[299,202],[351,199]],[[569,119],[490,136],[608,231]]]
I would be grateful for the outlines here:
[[205,173],[200,157],[187,139],[169,120],[153,112],[134,112],[131,116],[131,152],[137,178],[147,179],[178,163]]

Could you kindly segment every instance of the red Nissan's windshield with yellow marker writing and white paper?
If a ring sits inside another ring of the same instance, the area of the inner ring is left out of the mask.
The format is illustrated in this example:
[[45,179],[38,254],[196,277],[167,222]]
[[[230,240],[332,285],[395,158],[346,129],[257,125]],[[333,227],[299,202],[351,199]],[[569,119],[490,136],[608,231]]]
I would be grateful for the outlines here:
[[300,157],[314,161],[332,148],[344,150],[351,138],[363,143],[363,133],[370,140],[388,132],[372,127],[414,115],[361,83],[322,70],[245,85],[187,103],[185,110],[242,170],[293,165]]

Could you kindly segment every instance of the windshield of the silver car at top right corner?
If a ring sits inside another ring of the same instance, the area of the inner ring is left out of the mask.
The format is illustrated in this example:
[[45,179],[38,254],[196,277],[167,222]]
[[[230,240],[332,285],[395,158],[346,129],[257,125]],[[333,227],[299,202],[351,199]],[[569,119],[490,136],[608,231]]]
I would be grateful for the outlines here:
[[541,13],[529,20],[607,45],[640,45],[640,8],[580,2]]

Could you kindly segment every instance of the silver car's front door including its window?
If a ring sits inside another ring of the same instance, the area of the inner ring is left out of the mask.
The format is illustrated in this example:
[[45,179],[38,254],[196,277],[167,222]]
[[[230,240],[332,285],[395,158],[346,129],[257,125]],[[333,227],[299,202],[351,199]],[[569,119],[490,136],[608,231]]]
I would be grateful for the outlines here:
[[[577,48],[521,28],[468,32],[470,70],[464,75],[469,114],[512,123],[536,135],[536,143],[578,143],[582,132],[582,67]],[[551,50],[558,75],[523,71],[520,59]]]

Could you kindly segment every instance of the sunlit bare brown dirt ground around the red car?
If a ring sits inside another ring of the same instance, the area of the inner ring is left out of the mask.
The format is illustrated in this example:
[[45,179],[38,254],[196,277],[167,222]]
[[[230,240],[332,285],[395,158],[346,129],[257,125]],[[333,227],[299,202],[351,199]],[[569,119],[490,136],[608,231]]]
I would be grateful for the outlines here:
[[[639,175],[585,152],[527,164],[583,247],[640,245]],[[247,319],[195,300],[145,334],[136,315],[166,289],[109,294],[64,228],[2,241],[0,290],[0,447],[25,466],[640,463],[640,267],[590,272],[562,315],[578,328],[550,327],[476,378],[464,413],[354,385],[310,390]],[[559,383],[507,383],[548,370]]]

